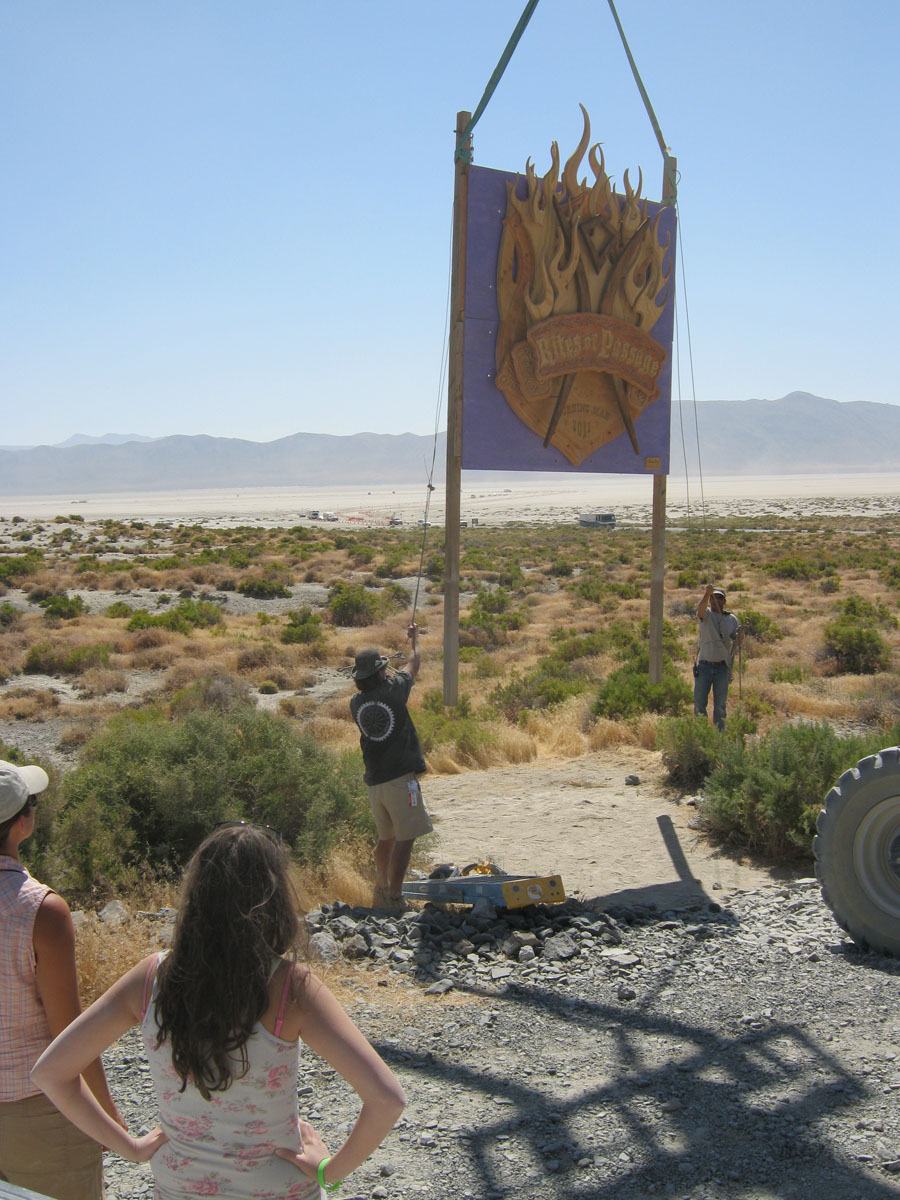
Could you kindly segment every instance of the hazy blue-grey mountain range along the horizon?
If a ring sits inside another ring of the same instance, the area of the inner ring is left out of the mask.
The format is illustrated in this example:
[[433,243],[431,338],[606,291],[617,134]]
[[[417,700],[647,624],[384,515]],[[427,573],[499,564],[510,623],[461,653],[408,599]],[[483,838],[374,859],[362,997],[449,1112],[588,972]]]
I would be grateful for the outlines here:
[[[674,407],[673,474],[684,473],[679,415]],[[683,415],[688,470],[695,474],[694,412]],[[900,406],[841,404],[793,391],[773,401],[707,401],[696,416],[707,475],[900,469]],[[436,481],[444,478],[445,445],[442,433]],[[277,442],[77,434],[56,446],[0,449],[0,496],[409,484],[422,480],[433,450],[431,436],[413,433],[294,433]]]

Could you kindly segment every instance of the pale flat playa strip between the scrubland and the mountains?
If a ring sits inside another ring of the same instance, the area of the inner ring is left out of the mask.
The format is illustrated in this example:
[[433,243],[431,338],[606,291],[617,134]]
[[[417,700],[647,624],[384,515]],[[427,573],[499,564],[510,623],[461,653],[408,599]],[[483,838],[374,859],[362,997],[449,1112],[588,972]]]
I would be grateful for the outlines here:
[[[510,522],[553,524],[577,518],[592,509],[616,511],[618,520],[648,523],[652,482],[635,475],[554,475],[509,480],[466,472],[462,516],[479,524]],[[0,512],[26,520],[78,514],[85,521],[108,517],[145,521],[212,521],[284,524],[312,509],[335,512],[342,523],[384,524],[391,516],[404,523],[424,520],[427,476],[419,486],[392,487],[257,487],[244,490],[185,487],[180,492],[82,493],[72,496],[5,497],[0,481]],[[716,475],[685,480],[672,475],[667,485],[671,521],[708,516],[797,516],[893,512],[900,503],[900,472],[874,474]],[[428,520],[444,518],[443,484],[436,485]]]

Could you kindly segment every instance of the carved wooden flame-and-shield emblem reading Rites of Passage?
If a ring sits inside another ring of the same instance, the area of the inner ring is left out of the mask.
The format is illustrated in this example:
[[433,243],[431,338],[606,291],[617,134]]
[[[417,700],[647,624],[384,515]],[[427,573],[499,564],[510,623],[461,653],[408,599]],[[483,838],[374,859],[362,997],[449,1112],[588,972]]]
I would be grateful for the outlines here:
[[617,194],[590,120],[559,178],[559,149],[538,179],[526,164],[527,194],[508,185],[497,263],[497,386],[544,445],[574,466],[628,433],[640,454],[636,418],[659,398],[666,350],[650,337],[668,290],[659,221],[624,176]]

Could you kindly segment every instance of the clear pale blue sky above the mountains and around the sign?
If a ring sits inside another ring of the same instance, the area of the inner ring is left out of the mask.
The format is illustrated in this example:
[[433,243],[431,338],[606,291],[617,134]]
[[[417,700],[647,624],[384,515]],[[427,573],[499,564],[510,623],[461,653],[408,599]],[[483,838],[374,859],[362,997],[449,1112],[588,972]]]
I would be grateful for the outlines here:
[[[455,116],[523,6],[0,0],[0,443],[430,432]],[[697,397],[900,402],[898,0],[618,11],[678,156]],[[542,173],[580,101],[659,196],[605,0],[541,0],[475,162]]]

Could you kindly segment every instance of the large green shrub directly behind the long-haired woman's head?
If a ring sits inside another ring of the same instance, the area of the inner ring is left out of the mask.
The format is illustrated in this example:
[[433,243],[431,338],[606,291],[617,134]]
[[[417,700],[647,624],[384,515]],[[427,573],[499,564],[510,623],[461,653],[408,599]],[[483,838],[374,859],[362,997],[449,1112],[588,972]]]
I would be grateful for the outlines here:
[[122,713],[65,778],[56,878],[85,893],[145,866],[170,874],[223,820],[270,826],[316,864],[340,840],[370,833],[356,758],[241,702]]

